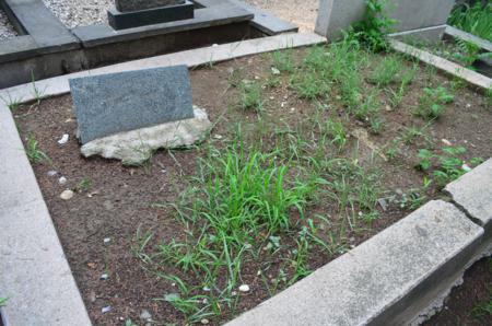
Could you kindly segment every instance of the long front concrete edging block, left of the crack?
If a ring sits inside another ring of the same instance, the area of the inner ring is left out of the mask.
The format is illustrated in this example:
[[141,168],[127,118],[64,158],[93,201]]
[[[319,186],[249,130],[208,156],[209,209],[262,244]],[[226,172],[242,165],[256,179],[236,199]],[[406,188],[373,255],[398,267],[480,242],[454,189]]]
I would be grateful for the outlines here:
[[460,279],[482,234],[431,201],[226,325],[407,324]]

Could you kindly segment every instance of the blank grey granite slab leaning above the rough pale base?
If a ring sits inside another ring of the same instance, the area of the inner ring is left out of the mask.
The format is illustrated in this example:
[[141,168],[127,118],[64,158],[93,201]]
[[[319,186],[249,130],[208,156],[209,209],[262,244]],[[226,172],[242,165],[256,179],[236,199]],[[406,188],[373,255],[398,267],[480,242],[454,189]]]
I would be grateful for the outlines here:
[[83,144],[194,117],[186,66],[71,79],[70,90]]

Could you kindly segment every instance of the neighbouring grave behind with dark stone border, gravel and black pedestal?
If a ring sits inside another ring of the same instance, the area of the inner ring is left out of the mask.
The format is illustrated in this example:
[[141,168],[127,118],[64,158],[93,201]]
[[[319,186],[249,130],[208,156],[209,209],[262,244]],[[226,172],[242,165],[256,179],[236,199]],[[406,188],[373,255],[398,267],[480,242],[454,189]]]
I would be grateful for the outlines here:
[[297,31],[235,0],[0,3],[20,34],[0,42],[0,89],[33,78]]

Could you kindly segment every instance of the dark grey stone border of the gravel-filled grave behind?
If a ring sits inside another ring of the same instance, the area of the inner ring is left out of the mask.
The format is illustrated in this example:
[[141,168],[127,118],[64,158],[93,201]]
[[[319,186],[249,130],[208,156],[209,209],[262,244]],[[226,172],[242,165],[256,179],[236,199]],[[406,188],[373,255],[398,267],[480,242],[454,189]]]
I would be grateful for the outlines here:
[[67,28],[42,0],[0,0],[21,34],[0,42],[0,89],[89,68],[282,33],[297,26],[237,0],[192,0],[195,18],[114,31]]

